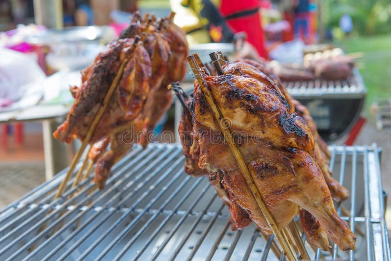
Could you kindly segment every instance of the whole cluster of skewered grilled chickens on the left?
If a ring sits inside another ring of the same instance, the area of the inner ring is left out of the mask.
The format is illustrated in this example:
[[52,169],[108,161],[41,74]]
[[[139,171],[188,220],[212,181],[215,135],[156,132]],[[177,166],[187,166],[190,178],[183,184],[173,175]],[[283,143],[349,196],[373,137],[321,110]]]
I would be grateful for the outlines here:
[[[148,144],[150,132],[172,103],[167,85],[180,81],[185,74],[188,45],[185,33],[172,21],[173,15],[156,21],[153,16],[143,19],[135,12],[119,38],[82,71],[81,87],[70,87],[75,102],[65,122],[54,132],[55,138],[68,143],[85,138],[121,63],[129,59],[89,142],[92,148],[88,156],[96,162],[94,181],[99,189],[103,189],[111,167],[132,144]],[[132,50],[137,35],[143,43]],[[124,131],[129,135],[123,137]]]

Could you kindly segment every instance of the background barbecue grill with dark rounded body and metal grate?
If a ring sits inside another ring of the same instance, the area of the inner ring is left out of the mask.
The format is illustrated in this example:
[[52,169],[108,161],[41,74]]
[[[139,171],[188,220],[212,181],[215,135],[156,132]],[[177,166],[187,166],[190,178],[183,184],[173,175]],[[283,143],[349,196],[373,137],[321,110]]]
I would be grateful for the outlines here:
[[338,139],[353,127],[367,93],[357,68],[346,80],[315,79],[283,84],[293,98],[308,108],[319,134],[326,141]]

